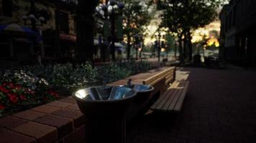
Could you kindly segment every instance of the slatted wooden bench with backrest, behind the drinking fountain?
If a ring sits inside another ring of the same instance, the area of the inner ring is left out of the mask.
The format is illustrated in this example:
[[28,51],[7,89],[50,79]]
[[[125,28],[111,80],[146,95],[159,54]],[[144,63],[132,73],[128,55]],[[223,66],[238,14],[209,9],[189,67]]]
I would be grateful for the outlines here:
[[[160,91],[150,109],[161,112],[179,112],[188,89],[188,81],[175,81],[175,67],[170,67],[145,79],[143,84]],[[155,94],[155,93],[154,93]]]

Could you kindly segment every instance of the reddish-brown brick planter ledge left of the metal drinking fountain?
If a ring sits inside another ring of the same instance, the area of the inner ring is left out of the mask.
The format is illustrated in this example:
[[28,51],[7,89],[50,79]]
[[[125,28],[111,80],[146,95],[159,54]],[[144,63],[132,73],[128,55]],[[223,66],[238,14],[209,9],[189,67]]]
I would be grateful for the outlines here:
[[83,142],[84,121],[75,99],[66,97],[0,119],[0,142]]

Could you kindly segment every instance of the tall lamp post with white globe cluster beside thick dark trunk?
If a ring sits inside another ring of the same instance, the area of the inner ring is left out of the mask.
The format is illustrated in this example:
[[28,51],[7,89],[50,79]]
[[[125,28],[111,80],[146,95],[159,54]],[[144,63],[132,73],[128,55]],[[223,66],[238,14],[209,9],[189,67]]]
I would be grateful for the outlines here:
[[116,0],[110,0],[106,4],[102,5],[101,9],[99,9],[99,13],[104,15],[104,19],[109,19],[111,21],[111,37],[110,37],[111,45],[110,45],[110,52],[111,52],[111,57],[112,57],[113,61],[116,61],[115,46],[114,46],[114,43],[116,41],[116,35],[115,35],[116,24],[115,24],[115,19],[116,19],[117,15],[121,15],[122,14],[122,9],[124,9],[124,3],[116,2]]

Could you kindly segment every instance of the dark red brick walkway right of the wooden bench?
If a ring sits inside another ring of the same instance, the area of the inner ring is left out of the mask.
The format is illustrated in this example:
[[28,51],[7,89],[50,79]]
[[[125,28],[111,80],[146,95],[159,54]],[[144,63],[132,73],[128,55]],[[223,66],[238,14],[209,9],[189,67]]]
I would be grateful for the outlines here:
[[256,142],[256,71],[180,70],[190,71],[182,112],[138,119],[127,143]]

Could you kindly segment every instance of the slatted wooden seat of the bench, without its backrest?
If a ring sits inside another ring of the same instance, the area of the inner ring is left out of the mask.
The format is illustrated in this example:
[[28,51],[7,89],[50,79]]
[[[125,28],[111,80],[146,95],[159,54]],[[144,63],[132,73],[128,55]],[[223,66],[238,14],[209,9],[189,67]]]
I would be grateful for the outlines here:
[[188,81],[175,81],[160,95],[150,109],[160,112],[180,112],[188,90]]

